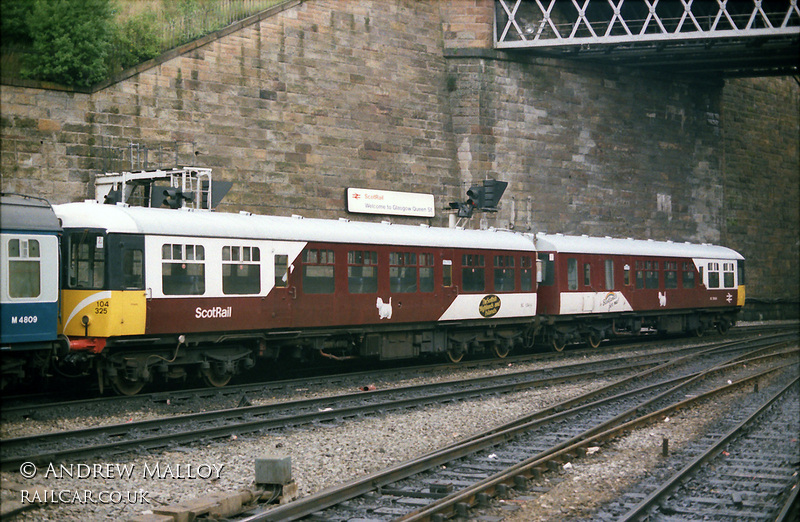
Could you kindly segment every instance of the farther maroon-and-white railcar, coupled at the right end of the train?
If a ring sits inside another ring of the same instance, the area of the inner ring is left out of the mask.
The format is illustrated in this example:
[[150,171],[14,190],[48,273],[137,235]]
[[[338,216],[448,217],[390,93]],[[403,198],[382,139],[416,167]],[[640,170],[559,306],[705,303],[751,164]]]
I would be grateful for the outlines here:
[[714,245],[537,234],[545,340],[597,346],[642,329],[726,332],[744,305],[744,258]]

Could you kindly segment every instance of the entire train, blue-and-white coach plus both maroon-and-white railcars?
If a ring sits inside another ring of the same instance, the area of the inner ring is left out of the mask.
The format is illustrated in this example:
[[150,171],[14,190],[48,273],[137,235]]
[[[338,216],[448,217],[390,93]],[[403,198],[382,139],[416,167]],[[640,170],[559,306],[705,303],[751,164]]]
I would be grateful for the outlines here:
[[258,359],[555,350],[725,332],[744,258],[720,246],[2,198],[5,381],[214,386]]

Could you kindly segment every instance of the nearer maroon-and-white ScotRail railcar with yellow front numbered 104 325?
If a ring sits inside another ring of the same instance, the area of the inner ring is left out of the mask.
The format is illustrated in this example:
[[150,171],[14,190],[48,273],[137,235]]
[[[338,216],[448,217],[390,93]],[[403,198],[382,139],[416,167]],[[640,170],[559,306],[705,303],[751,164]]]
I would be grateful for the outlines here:
[[395,359],[532,338],[532,238],[500,230],[57,205],[71,362],[136,393],[256,357]]

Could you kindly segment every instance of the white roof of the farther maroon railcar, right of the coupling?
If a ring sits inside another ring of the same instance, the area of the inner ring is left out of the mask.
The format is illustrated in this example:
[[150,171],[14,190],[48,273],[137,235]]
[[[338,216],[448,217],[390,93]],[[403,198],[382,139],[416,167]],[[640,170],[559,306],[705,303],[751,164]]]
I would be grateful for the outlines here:
[[536,234],[536,249],[543,252],[582,254],[744,259],[735,250],[716,245],[544,233]]

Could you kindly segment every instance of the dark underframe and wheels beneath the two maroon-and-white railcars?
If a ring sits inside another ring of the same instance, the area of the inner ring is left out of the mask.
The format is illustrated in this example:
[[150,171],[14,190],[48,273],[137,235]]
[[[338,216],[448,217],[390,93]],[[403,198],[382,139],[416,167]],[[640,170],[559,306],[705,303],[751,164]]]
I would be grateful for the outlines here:
[[[726,333],[736,310],[692,310],[670,314],[538,316],[525,321],[417,324],[308,331],[195,334],[148,339],[110,339],[99,354],[73,351],[60,362],[70,373],[94,373],[103,390],[133,395],[155,380],[200,377],[225,386],[257,360],[309,362],[315,358],[400,360],[445,357],[454,363],[473,354],[506,357],[514,350],[569,344],[598,347],[603,339],[643,334]],[[61,372],[67,373],[67,372]]]

